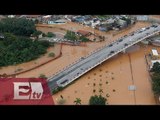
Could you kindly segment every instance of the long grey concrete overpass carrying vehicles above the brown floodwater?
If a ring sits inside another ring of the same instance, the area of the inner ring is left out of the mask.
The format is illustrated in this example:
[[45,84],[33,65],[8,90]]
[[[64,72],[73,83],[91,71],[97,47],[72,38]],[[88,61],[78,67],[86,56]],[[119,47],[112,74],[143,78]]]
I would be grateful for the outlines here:
[[87,57],[82,57],[74,64],[68,66],[66,69],[60,71],[51,78],[48,78],[48,85],[50,89],[54,89],[58,86],[65,87],[69,83],[73,82],[86,72],[95,68],[102,62],[110,59],[120,52],[124,52],[130,46],[151,37],[160,32],[160,25],[152,25],[146,28],[141,28],[128,35],[125,35],[115,42],[92,52]]

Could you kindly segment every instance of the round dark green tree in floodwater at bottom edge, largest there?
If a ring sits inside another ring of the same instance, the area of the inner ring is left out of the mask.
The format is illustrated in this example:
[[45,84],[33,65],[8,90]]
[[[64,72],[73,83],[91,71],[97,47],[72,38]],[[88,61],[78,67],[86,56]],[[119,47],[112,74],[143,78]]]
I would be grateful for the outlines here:
[[97,96],[91,96],[89,100],[90,105],[105,105],[107,99],[102,97],[101,95]]

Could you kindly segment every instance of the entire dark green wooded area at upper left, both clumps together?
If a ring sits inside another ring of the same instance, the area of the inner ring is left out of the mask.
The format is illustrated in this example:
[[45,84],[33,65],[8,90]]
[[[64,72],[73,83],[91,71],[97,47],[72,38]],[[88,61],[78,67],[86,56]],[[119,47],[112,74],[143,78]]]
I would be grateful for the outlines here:
[[42,34],[31,20],[5,18],[0,21],[0,67],[15,65],[38,58],[47,52],[50,43],[29,37]]

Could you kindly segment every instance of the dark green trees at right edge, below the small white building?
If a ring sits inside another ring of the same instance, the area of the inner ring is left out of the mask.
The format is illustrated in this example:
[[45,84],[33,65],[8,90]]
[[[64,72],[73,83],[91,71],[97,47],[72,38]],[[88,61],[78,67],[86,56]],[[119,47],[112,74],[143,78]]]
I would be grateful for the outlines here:
[[154,63],[151,71],[153,72],[152,89],[155,95],[160,95],[160,63]]

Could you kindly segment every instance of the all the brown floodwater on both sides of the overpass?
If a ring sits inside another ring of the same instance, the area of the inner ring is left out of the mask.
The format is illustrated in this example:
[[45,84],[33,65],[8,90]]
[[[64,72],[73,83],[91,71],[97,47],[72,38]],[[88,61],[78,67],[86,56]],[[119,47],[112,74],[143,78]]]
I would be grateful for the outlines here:
[[[106,39],[103,42],[88,42],[85,43],[85,46],[63,45],[61,57],[34,70],[19,74],[17,77],[38,77],[40,74],[45,74],[47,77],[51,77],[57,72],[63,70],[66,66],[73,64],[81,57],[89,55],[91,52],[113,42],[117,38],[149,25],[150,24],[146,22],[138,22],[121,32],[110,31],[107,33],[93,30],[89,27],[83,27],[76,23],[56,25],[55,28],[54,26],[52,28],[38,27],[38,30],[45,33],[62,32],[63,34],[66,32],[64,29],[70,29],[73,31],[83,29],[94,31],[99,35],[105,36]],[[113,105],[155,104],[144,57],[144,54],[150,52],[150,49],[151,47],[137,47],[136,50],[130,49],[130,52],[128,53],[120,53],[105,61],[92,71],[83,75],[65,90],[53,95],[55,104],[57,104],[61,95],[66,100],[66,105],[72,105],[75,104],[74,100],[76,98],[80,98],[82,104],[88,104],[90,96],[99,94],[106,97],[108,103]],[[30,64],[31,63],[28,62],[27,66]],[[16,67],[19,67],[19,65]],[[5,71],[5,68],[3,70]],[[2,70],[0,71],[4,72]],[[128,88],[130,85],[135,85],[136,90],[129,90]]]

